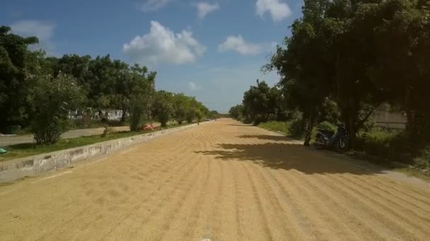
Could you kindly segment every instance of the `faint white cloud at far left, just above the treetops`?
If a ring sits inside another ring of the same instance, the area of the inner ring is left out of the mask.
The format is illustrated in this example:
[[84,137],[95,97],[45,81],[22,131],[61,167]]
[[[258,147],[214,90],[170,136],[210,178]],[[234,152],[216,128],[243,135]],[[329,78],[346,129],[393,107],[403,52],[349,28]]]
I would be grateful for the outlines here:
[[23,37],[36,36],[39,44],[34,44],[31,49],[43,49],[47,55],[55,55],[55,46],[52,43],[52,36],[57,25],[39,20],[21,20],[11,24],[12,32]]

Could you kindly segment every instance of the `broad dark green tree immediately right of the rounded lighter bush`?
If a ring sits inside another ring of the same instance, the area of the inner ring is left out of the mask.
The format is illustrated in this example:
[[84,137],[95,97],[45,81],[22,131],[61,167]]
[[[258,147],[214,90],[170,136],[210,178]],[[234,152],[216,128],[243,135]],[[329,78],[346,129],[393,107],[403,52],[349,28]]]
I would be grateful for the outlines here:
[[156,72],[149,72],[145,66],[112,61],[109,55],[95,59],[88,55],[64,55],[57,61],[56,69],[56,73],[73,75],[83,86],[88,94],[86,106],[97,109],[99,115],[105,109],[120,109],[121,121],[125,121],[132,95],[136,94],[134,89],[140,85],[153,89],[156,78]]

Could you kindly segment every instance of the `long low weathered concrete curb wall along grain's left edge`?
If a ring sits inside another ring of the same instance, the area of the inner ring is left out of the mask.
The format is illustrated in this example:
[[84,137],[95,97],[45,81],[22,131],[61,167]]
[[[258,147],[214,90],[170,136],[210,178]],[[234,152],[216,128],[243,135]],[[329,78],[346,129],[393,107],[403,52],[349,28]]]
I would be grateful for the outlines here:
[[192,128],[194,126],[197,126],[197,124],[184,125],[168,130],[159,130],[143,135],[135,135],[132,137],[110,140],[107,142],[99,142],[89,146],[64,149],[58,152],[40,154],[37,156],[28,156],[11,161],[2,161],[0,162],[0,183],[11,182],[25,176],[33,176],[57,168],[65,168],[70,163],[74,163],[75,161],[90,159],[103,154],[109,154],[110,152],[115,152],[118,149],[129,147],[133,144],[146,142],[155,137],[168,135],[170,133]]

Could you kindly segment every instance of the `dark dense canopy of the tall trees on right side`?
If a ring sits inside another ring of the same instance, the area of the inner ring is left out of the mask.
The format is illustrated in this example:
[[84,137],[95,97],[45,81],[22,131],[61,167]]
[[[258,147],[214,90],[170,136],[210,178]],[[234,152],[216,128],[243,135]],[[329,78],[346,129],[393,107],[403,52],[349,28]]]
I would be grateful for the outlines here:
[[352,143],[371,111],[385,101],[406,111],[412,140],[428,138],[430,131],[422,130],[430,123],[427,5],[307,0],[285,47],[278,47],[264,69],[277,70],[287,106],[310,123],[334,121],[324,113],[330,109],[324,103],[335,101]]

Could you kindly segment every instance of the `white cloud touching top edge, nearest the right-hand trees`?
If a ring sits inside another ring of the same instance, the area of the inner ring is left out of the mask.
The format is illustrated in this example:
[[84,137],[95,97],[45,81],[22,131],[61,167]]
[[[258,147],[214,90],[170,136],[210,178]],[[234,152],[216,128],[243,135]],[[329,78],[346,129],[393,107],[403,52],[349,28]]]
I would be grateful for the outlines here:
[[269,12],[274,22],[279,22],[291,15],[289,6],[281,0],[257,0],[255,6],[257,7],[257,15],[262,17],[266,12]]

